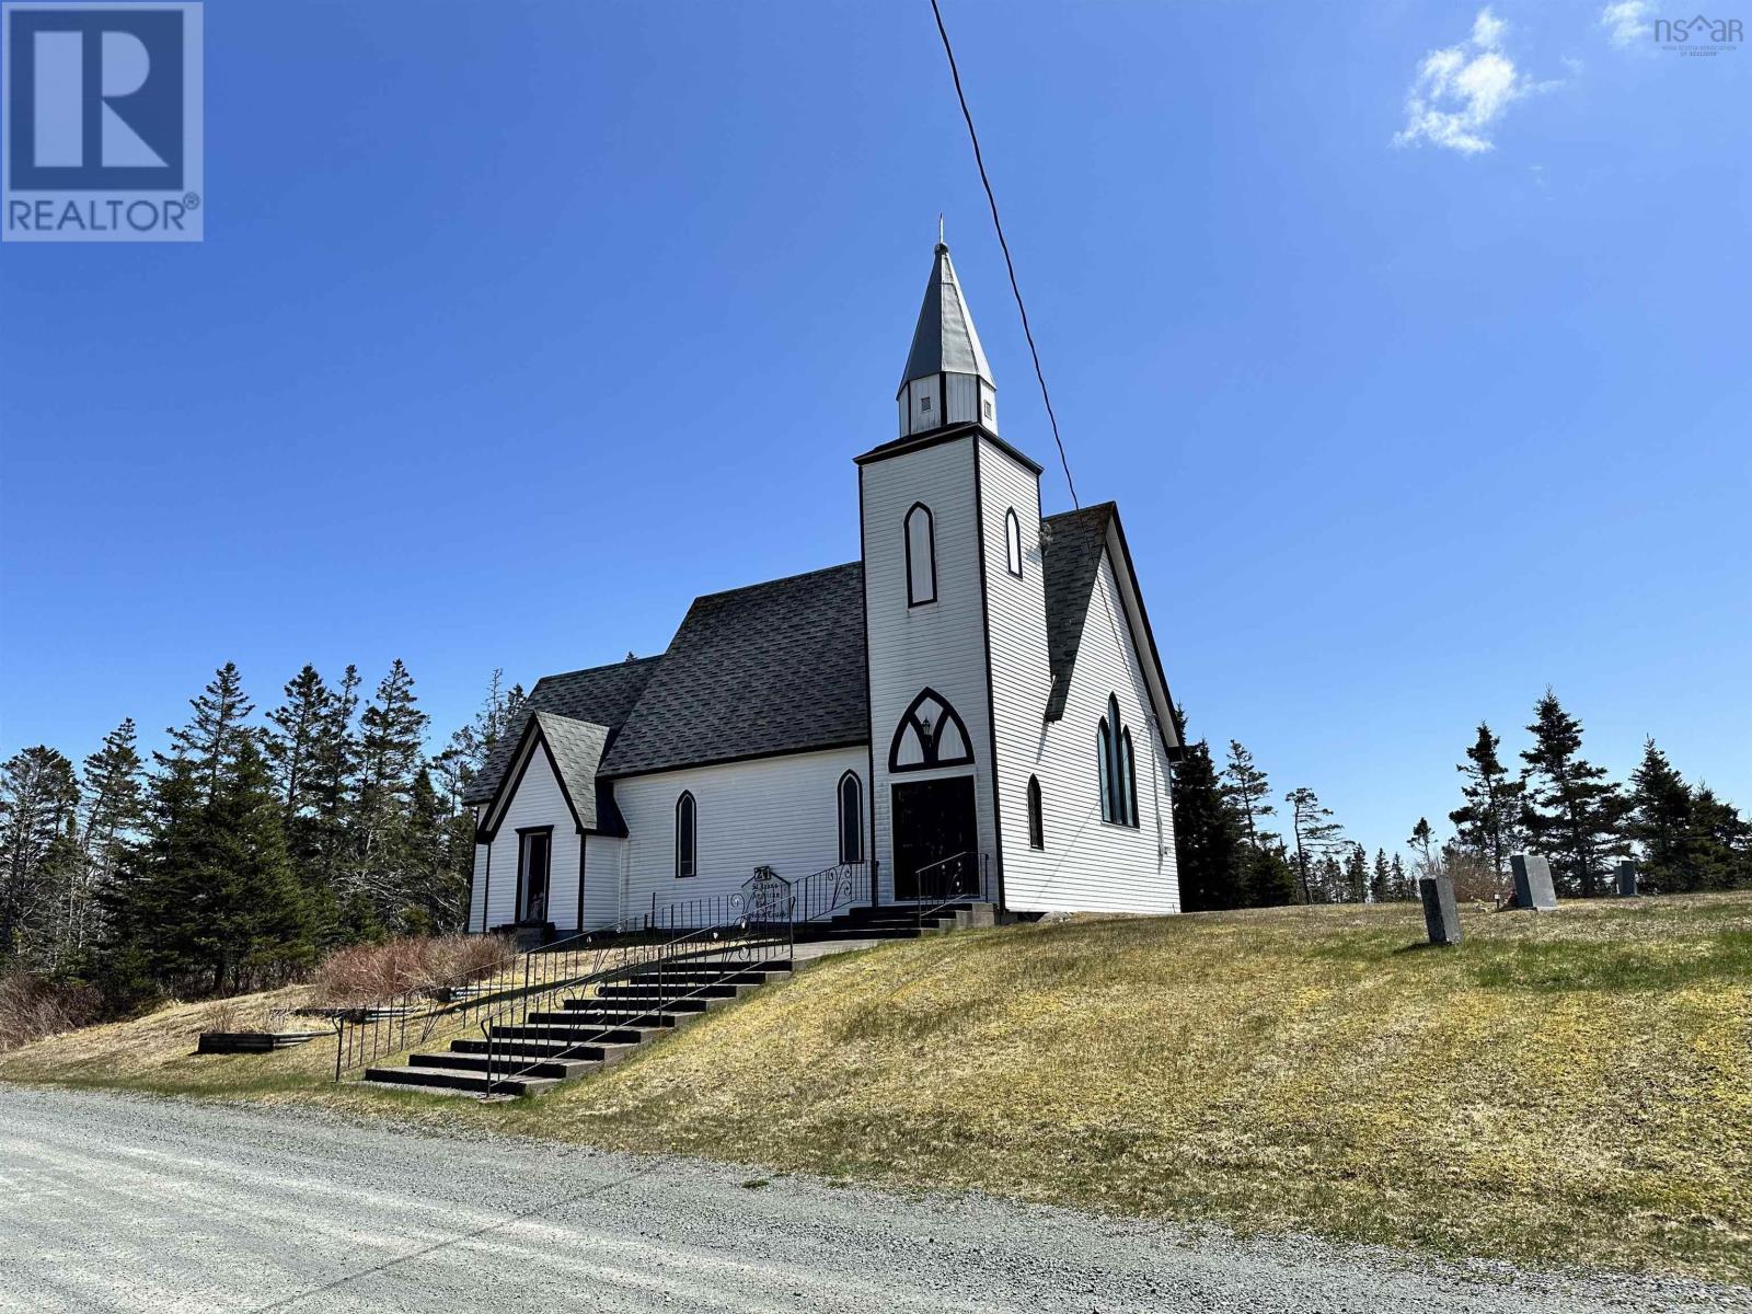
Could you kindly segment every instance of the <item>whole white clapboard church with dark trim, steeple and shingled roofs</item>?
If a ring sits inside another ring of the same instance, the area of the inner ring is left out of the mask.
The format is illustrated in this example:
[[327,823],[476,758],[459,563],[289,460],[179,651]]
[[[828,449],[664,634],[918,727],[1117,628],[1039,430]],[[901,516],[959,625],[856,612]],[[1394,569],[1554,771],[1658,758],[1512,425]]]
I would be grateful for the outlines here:
[[941,242],[897,403],[855,457],[858,561],[696,597],[662,655],[529,690],[466,795],[471,930],[568,936],[759,867],[850,872],[857,904],[1179,911],[1179,739],[1120,512],[1041,513]]

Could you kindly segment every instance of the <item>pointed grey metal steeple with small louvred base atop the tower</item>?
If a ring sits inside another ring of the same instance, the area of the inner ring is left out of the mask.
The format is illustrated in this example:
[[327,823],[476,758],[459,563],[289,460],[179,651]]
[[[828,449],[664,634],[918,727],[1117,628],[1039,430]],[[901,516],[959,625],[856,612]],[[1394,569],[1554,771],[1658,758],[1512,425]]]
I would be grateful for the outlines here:
[[950,247],[943,242],[941,221],[925,303],[918,310],[913,349],[906,354],[895,399],[902,438],[974,422],[997,433],[997,384],[955,277]]

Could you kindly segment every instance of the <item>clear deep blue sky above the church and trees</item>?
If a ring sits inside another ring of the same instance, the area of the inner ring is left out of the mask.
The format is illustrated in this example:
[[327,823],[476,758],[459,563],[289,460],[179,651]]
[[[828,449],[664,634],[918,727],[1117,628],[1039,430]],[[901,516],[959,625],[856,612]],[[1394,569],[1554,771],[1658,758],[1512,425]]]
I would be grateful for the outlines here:
[[[944,12],[1197,736],[1395,846],[1551,683],[1752,804],[1752,46]],[[0,247],[0,752],[156,741],[226,659],[399,655],[447,732],[853,559],[939,210],[1055,470],[923,0],[210,0],[205,186],[201,245]]]

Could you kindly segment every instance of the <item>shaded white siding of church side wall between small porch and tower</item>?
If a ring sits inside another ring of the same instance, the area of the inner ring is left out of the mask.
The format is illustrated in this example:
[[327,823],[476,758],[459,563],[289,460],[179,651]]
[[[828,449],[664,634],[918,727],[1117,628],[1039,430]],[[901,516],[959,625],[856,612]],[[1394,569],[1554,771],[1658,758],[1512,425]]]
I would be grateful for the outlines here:
[[[904,510],[904,508],[902,508]],[[906,583],[901,585],[906,603]],[[587,906],[596,908],[596,878],[608,865],[603,850],[618,846],[620,916],[664,908],[680,899],[734,894],[755,867],[773,867],[795,881],[839,862],[839,778],[855,771],[869,797],[869,750],[830,748],[748,762],[664,771],[615,781],[615,802],[627,820],[625,841],[590,839],[585,864]],[[675,802],[682,790],[699,808],[699,874],[675,874]]]

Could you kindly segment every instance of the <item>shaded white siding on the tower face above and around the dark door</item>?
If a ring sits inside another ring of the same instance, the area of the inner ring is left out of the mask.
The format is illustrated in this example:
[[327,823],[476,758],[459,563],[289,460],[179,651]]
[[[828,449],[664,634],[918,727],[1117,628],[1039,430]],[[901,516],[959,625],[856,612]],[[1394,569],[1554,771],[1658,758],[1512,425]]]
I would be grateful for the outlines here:
[[[979,531],[974,499],[974,438],[872,461],[858,468],[864,501],[864,610],[869,625],[874,855],[881,897],[894,897],[890,827],[895,780],[939,780],[972,773],[979,848],[997,850],[992,813],[992,731],[986,708],[985,620],[979,589]],[[902,522],[925,503],[937,534],[937,601],[908,606]],[[1002,547],[1002,524],[999,524]],[[1002,561],[1002,557],[999,557]],[[888,745],[901,715],[922,689],[936,689],[967,725],[972,767],[888,773]]]

